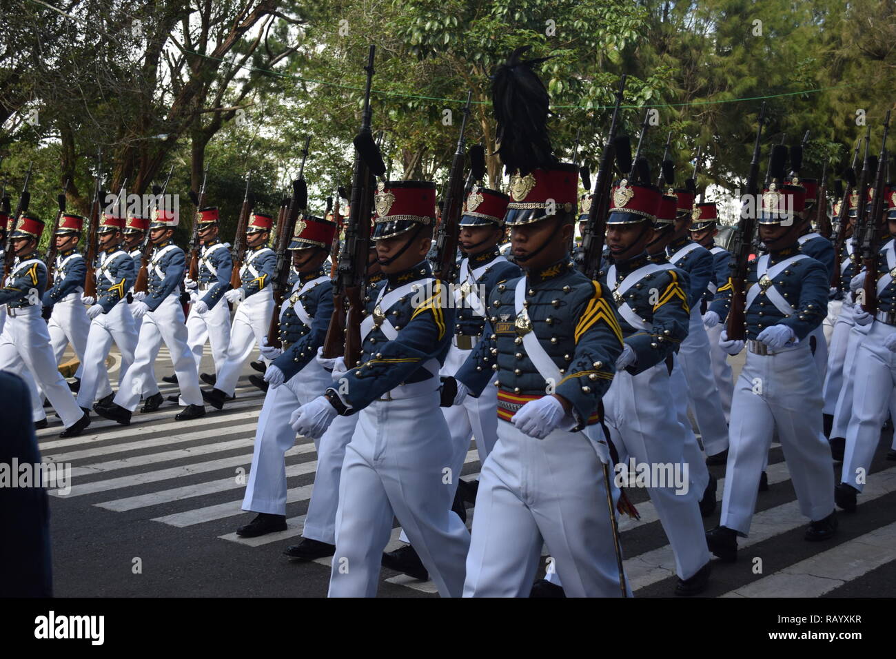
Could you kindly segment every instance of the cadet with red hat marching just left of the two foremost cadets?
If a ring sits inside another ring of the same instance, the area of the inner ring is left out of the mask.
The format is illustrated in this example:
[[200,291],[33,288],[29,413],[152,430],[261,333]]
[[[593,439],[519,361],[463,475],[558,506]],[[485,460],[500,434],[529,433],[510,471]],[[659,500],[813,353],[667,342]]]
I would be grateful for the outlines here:
[[[315,357],[323,346],[333,310],[332,282],[329,273],[323,272],[323,262],[330,254],[335,231],[335,222],[304,215],[296,222],[289,243],[299,276],[284,307],[297,316],[301,328],[289,336],[292,341],[281,342],[281,348],[266,342],[262,345],[265,359],[271,360],[264,374],[270,386],[258,417],[252,471],[243,499],[243,509],[258,515],[237,529],[237,535],[243,537],[286,529],[284,454],[296,443],[290,415],[331,384],[330,374]],[[315,448],[320,441],[314,439]]]

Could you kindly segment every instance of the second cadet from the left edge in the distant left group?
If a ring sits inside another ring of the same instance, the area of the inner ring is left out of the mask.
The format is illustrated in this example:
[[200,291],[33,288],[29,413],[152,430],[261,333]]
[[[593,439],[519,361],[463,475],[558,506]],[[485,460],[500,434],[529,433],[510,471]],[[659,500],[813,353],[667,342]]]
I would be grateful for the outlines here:
[[90,318],[87,317],[87,312],[81,304],[87,263],[76,249],[81,239],[83,222],[84,218],[81,215],[70,212],[64,212],[60,218],[56,235],[53,237],[58,250],[54,264],[54,282],[41,299],[45,308],[52,309],[47,322],[47,332],[50,334],[50,345],[56,354],[56,363],[62,361],[69,343],[81,361],[74,376],[73,391],[77,391],[81,383],[84,348],[87,346],[87,334],[90,332]]

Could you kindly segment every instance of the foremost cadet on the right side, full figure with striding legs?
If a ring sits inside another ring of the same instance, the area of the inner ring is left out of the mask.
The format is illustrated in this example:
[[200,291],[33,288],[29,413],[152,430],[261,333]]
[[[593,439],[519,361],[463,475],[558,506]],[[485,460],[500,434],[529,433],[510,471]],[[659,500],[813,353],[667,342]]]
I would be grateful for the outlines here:
[[[776,430],[800,510],[811,520],[806,540],[827,540],[837,530],[822,386],[807,340],[827,313],[830,279],[823,264],[799,250],[800,225],[791,213],[803,211],[805,195],[800,186],[774,184],[762,195],[759,237],[768,253],[751,261],[747,274],[746,363],[731,404],[721,519],[706,533],[710,551],[722,560],[737,559],[737,536],[750,531]],[[713,308],[724,318],[728,301],[717,299]],[[728,354],[744,347],[724,332],[720,345]]]

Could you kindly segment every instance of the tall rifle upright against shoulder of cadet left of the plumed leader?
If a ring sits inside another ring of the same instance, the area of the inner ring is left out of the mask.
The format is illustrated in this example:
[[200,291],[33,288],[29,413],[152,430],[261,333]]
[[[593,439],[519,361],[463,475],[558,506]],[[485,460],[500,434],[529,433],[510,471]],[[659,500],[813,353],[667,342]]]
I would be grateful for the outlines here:
[[[351,180],[349,220],[333,282],[333,314],[323,341],[323,356],[332,359],[345,356],[349,368],[358,364],[361,354],[362,296],[370,251],[370,216],[373,204],[374,176],[382,176],[386,166],[370,134],[370,85],[374,78],[375,46],[367,55],[367,84],[364,92],[364,113],[361,130],[355,135],[355,168]],[[347,308],[348,307],[348,308]]]

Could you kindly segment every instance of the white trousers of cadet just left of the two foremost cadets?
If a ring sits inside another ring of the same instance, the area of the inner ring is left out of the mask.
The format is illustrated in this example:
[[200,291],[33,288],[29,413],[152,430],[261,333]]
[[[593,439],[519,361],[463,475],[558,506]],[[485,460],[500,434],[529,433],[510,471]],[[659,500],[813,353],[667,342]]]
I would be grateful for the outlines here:
[[[330,382],[330,374],[311,360],[288,382],[276,389],[268,389],[255,429],[252,470],[246,483],[243,510],[286,515],[286,462],[283,455],[296,443],[296,431],[289,425],[289,417],[297,408],[322,395]],[[320,439],[315,439],[314,447],[319,444]],[[317,487],[316,478],[314,487]]]

